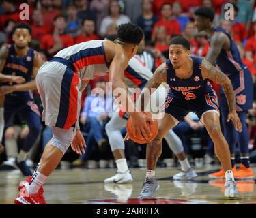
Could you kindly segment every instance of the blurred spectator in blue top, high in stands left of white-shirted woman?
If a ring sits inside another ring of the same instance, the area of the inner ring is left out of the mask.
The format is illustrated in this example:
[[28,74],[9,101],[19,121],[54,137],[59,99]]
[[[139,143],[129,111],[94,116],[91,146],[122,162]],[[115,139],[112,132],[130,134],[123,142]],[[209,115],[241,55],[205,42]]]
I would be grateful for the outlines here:
[[79,25],[79,20],[77,19],[77,9],[75,5],[73,4],[68,5],[67,14],[68,14],[67,27],[66,27],[67,33],[69,35],[72,35],[73,37],[76,37],[76,35],[79,32],[80,25]]

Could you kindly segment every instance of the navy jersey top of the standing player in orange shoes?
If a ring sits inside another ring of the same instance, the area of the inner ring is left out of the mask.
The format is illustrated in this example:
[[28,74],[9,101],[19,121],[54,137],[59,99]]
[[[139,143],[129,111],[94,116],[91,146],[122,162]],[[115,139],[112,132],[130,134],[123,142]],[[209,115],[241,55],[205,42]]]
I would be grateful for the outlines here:
[[215,32],[222,32],[229,37],[230,49],[221,49],[221,53],[216,59],[216,64],[220,67],[221,71],[228,76],[231,74],[238,74],[241,70],[246,69],[246,65],[242,62],[236,42],[233,41],[232,37],[221,27],[217,27]]

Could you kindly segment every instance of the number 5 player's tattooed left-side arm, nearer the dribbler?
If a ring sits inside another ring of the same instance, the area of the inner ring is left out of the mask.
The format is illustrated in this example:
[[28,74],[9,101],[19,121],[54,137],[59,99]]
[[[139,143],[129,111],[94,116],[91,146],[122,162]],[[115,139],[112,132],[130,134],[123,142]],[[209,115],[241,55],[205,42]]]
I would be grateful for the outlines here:
[[[154,72],[152,78],[148,80],[147,84],[141,91],[141,95],[137,99],[137,105],[141,106],[142,110],[145,108],[149,101],[150,95],[156,91],[156,89],[167,80],[166,64],[162,63]],[[147,94],[146,94],[147,93]],[[148,95],[149,94],[149,95]]]

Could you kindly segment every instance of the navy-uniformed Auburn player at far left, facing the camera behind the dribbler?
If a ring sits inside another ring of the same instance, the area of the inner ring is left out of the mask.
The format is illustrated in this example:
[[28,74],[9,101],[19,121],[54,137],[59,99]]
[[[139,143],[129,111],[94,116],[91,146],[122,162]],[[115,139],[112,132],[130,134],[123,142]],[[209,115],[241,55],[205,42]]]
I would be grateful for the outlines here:
[[15,161],[16,166],[25,176],[32,175],[25,160],[41,129],[40,112],[33,102],[31,90],[36,89],[35,76],[42,61],[38,52],[29,48],[31,33],[32,29],[27,23],[16,24],[12,35],[14,44],[3,46],[0,51],[0,72],[7,76],[15,75],[25,79],[24,84],[10,85],[10,82],[7,82],[0,87],[1,95],[5,95],[5,123],[8,123],[12,115],[18,114],[29,127],[29,134]]

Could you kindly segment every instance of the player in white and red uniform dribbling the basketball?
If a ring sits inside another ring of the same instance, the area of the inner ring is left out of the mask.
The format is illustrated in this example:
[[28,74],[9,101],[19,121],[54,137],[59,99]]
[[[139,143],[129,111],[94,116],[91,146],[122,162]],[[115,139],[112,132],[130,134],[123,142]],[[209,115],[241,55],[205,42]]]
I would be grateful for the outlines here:
[[145,138],[150,136],[146,121],[152,119],[137,112],[124,83],[128,61],[136,54],[142,39],[140,27],[132,23],[120,25],[115,42],[91,40],[70,46],[40,67],[36,84],[44,106],[42,121],[53,128],[53,138],[46,144],[33,176],[20,183],[16,204],[46,204],[42,185],[70,144],[76,153],[85,153],[85,140],[79,129],[81,91],[96,76],[109,72],[113,90],[125,91],[125,110],[128,111],[128,106],[131,108],[130,116],[136,120],[135,131]]

